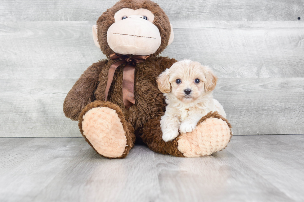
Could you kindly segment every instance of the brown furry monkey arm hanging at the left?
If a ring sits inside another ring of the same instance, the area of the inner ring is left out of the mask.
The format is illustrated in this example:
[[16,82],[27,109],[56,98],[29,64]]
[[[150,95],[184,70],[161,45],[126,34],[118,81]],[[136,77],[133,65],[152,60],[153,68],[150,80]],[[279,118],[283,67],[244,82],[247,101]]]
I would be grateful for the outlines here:
[[107,62],[107,60],[101,60],[93,63],[76,81],[63,103],[63,112],[66,117],[77,121],[83,108],[95,100],[94,92],[98,85],[99,74]]

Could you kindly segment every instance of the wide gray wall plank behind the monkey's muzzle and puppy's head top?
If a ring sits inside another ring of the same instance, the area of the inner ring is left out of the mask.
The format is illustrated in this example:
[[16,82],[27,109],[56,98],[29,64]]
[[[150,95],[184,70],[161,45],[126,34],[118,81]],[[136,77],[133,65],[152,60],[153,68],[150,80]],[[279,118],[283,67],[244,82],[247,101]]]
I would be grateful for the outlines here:
[[[78,79],[105,58],[92,40],[94,23],[1,23],[0,79]],[[304,77],[304,22],[172,24],[175,38],[163,56],[199,61],[219,77]]]

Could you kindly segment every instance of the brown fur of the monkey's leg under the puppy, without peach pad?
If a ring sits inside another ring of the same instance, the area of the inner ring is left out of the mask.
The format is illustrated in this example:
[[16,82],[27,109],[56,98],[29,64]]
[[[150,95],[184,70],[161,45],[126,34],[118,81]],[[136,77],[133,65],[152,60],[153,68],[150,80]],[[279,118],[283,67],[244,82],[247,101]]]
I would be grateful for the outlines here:
[[[171,154],[176,157],[184,157],[184,155],[177,149],[178,147],[178,140],[181,137],[181,134],[177,136],[176,139],[165,142],[163,141],[162,138],[162,130],[160,127],[160,118],[156,117],[152,119],[150,122],[146,123],[144,128],[143,128],[143,135],[141,138],[143,141],[148,145],[148,147],[157,153],[162,153],[162,154]],[[217,112],[209,112],[206,116],[202,117],[198,124],[199,125],[201,122],[205,121],[208,118],[219,118],[225,121],[228,125],[229,128],[231,128],[230,123],[227,121],[226,118],[223,118],[220,116]],[[230,138],[232,136],[232,132],[230,130]]]

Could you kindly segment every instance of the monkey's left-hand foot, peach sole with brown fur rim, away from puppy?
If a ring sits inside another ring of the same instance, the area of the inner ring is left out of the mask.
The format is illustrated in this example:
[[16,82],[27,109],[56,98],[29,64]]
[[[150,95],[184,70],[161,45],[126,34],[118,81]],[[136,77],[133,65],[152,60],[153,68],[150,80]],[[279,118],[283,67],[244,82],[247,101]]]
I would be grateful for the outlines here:
[[134,146],[134,128],[114,103],[91,102],[79,115],[78,126],[86,141],[103,157],[124,158]]

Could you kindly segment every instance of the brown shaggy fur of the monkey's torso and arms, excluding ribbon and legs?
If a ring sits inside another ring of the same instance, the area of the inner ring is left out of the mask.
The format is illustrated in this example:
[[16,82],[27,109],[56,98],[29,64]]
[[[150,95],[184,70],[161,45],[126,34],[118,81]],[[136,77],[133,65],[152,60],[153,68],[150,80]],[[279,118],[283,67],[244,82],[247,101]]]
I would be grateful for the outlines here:
[[[94,100],[105,100],[105,87],[110,66],[118,60],[102,60],[89,67],[69,91],[64,102],[64,113],[72,120],[78,120],[83,108]],[[166,68],[170,68],[175,59],[166,57],[148,58],[135,68],[134,98],[136,103],[128,110],[123,105],[122,81],[123,66],[117,68],[109,90],[108,101],[118,105],[126,121],[136,131],[151,118],[158,117],[165,110],[163,94],[159,91],[156,78]]]

